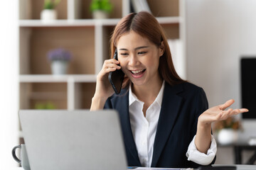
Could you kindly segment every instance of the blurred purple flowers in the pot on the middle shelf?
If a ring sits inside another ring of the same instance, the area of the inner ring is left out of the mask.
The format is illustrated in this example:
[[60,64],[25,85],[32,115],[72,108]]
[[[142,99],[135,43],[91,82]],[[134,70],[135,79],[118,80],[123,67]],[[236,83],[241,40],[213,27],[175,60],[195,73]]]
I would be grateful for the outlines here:
[[50,61],[54,61],[54,60],[69,61],[72,57],[71,53],[67,50],[64,50],[63,48],[50,50],[47,55],[48,55],[48,60]]

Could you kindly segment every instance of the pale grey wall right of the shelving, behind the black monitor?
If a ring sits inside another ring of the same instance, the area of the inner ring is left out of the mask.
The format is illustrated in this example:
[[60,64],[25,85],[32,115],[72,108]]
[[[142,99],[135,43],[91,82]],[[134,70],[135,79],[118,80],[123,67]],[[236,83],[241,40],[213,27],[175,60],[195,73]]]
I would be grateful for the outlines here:
[[[186,2],[187,79],[203,87],[209,106],[234,98],[233,108],[241,107],[240,57],[247,55],[256,56],[255,0]],[[244,128],[242,137],[256,136],[256,121]],[[221,155],[228,153],[233,151]],[[216,163],[231,161],[224,156]]]

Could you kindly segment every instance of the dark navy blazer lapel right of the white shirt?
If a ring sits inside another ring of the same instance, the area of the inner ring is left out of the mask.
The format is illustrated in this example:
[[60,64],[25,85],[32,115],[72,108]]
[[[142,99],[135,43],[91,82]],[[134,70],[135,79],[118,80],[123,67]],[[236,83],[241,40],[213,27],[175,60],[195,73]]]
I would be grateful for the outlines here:
[[159,123],[157,125],[154,141],[154,152],[151,167],[156,166],[171,130],[176,123],[176,118],[182,101],[182,98],[176,94],[182,90],[182,85],[171,87],[169,84],[165,84]]

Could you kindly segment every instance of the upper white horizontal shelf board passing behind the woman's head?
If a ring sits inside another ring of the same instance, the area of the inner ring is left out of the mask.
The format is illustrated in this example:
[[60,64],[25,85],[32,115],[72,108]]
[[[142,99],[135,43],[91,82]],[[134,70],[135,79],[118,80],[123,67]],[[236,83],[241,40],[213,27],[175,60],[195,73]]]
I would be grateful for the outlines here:
[[[179,16],[157,17],[157,21],[161,24],[180,23]],[[120,21],[119,18],[109,19],[80,19],[80,20],[56,20],[56,21],[41,21],[41,20],[20,20],[20,27],[74,27],[74,26],[116,26]]]

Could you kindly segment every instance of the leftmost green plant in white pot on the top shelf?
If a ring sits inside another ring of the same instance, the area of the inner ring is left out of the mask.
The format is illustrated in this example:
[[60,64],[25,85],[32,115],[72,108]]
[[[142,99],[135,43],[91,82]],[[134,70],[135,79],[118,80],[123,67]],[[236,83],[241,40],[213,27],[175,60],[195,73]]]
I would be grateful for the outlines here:
[[58,18],[55,7],[60,3],[60,0],[45,0],[43,11],[41,11],[42,21],[54,21]]

